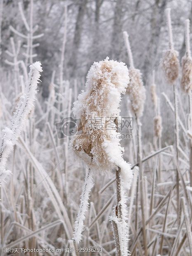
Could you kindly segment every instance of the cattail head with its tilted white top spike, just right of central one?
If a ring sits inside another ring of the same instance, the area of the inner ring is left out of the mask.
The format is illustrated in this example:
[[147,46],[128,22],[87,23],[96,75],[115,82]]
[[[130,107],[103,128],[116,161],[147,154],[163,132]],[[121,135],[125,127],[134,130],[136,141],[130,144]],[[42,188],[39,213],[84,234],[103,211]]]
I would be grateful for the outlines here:
[[128,52],[128,57],[130,62],[130,68],[129,68],[130,83],[126,90],[126,93],[129,96],[133,113],[139,118],[143,114],[144,103],[146,99],[145,87],[142,82],[142,74],[140,70],[135,69],[133,64],[133,56],[130,49],[128,33],[124,31],[123,36],[126,43],[126,49]]

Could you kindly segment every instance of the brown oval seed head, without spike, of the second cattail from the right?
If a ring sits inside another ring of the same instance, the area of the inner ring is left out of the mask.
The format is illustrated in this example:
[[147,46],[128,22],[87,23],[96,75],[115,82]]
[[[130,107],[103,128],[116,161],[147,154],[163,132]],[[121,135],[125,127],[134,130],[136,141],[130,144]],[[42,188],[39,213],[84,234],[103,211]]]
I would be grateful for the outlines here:
[[162,61],[162,69],[164,70],[166,80],[172,85],[179,75],[179,60],[177,51],[171,49],[165,52]]

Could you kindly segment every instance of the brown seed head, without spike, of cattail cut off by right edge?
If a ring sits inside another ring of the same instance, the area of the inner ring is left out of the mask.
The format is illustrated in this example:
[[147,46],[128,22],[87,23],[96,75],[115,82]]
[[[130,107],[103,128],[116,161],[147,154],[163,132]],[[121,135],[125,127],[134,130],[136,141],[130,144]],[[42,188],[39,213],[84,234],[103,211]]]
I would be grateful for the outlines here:
[[190,93],[192,90],[192,57],[189,56],[182,58],[181,88],[185,93]]

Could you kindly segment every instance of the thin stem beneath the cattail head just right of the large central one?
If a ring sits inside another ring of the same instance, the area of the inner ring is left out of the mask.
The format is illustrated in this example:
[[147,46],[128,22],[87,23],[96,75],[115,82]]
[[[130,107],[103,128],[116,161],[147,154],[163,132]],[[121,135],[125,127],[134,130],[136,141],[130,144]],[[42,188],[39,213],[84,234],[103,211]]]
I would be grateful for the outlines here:
[[135,115],[136,123],[137,123],[137,140],[138,140],[138,148],[137,148],[137,159],[140,168],[140,200],[141,200],[141,212],[142,212],[142,232],[143,232],[143,243],[145,249],[145,256],[147,256],[147,239],[146,239],[146,229],[145,229],[145,210],[144,210],[144,190],[143,190],[143,169],[142,169],[142,149],[141,149],[141,125],[140,121]]

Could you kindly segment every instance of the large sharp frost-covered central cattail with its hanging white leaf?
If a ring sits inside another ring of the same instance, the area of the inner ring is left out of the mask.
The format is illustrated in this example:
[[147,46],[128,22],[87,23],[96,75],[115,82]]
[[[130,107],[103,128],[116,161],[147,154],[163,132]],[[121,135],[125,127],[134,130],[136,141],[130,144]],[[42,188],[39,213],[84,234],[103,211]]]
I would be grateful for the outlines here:
[[[130,164],[123,160],[120,134],[114,122],[120,120],[121,93],[126,92],[128,83],[129,73],[125,64],[109,60],[107,57],[104,61],[95,62],[91,66],[85,85],[86,90],[74,103],[73,113],[81,122],[74,131],[70,147],[75,156],[89,168],[81,194],[80,211],[75,223],[73,239],[76,242],[80,242],[82,238],[88,190],[92,187],[92,173],[109,176],[111,170],[118,167],[119,171],[116,172],[120,174],[121,190],[123,187],[130,187],[133,174]],[[124,192],[122,192],[123,195]],[[120,204],[125,204],[125,200],[122,199]],[[125,211],[123,214],[126,215]],[[124,220],[126,221],[126,216]],[[119,221],[122,224],[122,221]],[[120,239],[125,240],[123,237],[122,235]]]

